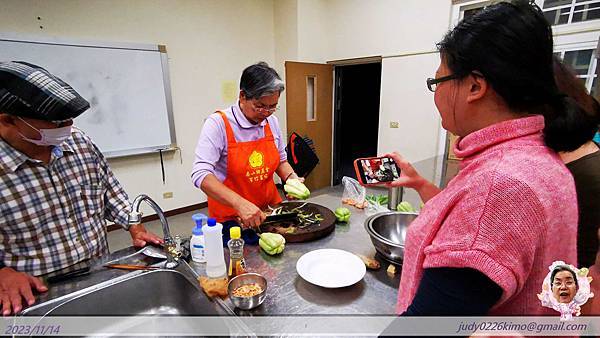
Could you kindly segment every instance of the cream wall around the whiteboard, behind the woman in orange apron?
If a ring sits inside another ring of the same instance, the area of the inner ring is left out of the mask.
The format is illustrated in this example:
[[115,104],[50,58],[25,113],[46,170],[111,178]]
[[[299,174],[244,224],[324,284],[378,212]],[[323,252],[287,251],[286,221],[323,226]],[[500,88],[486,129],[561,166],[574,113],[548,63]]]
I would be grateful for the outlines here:
[[[196,140],[204,118],[230,104],[221,83],[239,83],[243,68],[256,61],[274,62],[273,8],[270,0],[5,0],[0,31],[167,46],[183,163],[179,154],[165,155],[166,185],[158,155],[110,164],[132,198],[146,193],[171,210],[206,201],[190,180]],[[172,199],[162,198],[167,191]]]

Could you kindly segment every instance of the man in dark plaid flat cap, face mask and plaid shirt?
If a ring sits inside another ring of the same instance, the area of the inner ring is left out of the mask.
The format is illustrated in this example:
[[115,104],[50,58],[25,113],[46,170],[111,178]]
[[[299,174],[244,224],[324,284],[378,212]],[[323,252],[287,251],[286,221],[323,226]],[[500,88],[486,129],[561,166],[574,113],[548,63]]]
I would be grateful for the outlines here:
[[[25,62],[0,62],[0,310],[17,313],[46,286],[35,276],[108,253],[106,221],[131,204],[73,119],[90,107],[71,86]],[[143,225],[133,244],[160,243]]]

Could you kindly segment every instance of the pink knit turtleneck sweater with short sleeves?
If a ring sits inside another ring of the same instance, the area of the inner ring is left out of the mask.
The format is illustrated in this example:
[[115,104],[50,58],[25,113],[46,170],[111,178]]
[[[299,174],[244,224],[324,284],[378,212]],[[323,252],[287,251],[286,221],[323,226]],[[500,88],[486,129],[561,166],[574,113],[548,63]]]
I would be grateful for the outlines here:
[[423,269],[457,267],[477,269],[502,288],[490,315],[553,314],[536,294],[553,261],[577,265],[577,198],[543,128],[536,115],[457,140],[459,174],[410,225],[398,313],[411,304]]

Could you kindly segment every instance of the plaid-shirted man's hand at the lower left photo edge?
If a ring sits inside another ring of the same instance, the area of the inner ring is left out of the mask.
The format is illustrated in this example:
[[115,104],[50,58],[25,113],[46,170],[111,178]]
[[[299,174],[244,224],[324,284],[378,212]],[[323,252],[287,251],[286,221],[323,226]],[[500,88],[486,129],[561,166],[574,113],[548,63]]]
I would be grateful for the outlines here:
[[21,311],[23,309],[23,298],[25,298],[27,305],[35,303],[32,289],[38,292],[48,291],[42,280],[37,277],[15,271],[8,267],[0,269],[0,305],[2,306],[2,315],[9,316],[11,313],[16,314]]

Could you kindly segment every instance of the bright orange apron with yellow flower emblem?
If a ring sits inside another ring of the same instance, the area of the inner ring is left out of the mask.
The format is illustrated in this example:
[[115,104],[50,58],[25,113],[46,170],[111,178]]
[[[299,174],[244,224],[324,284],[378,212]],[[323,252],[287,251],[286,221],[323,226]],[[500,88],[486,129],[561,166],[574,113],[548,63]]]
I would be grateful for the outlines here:
[[[223,112],[218,112],[225,122],[227,133],[227,173],[223,184],[252,202],[260,209],[281,203],[281,197],[273,182],[273,174],[279,167],[279,151],[269,123],[265,124],[265,136],[248,142],[237,142],[233,129]],[[235,219],[235,209],[208,198],[208,214],[224,222]]]

